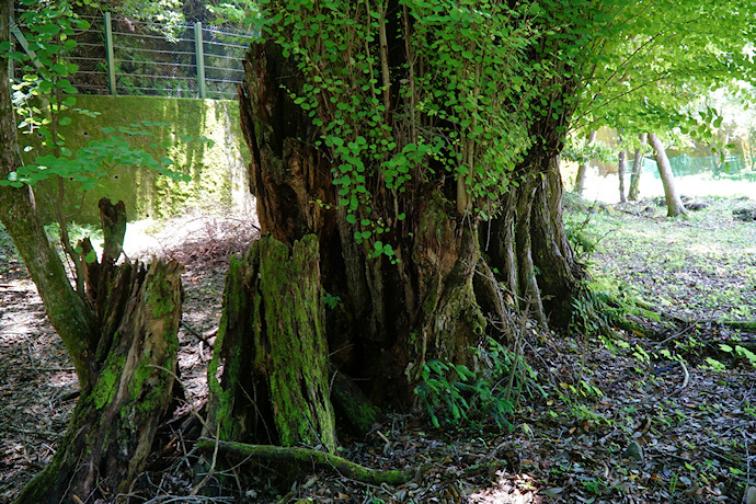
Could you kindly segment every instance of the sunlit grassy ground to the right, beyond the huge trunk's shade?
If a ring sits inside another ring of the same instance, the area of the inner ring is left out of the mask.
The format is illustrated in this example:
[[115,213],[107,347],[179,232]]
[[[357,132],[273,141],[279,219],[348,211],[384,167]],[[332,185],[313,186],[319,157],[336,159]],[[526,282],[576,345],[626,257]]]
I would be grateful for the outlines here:
[[692,320],[756,319],[756,226],[733,211],[740,198],[697,199],[707,207],[668,219],[655,202],[569,202],[566,225],[593,282]]

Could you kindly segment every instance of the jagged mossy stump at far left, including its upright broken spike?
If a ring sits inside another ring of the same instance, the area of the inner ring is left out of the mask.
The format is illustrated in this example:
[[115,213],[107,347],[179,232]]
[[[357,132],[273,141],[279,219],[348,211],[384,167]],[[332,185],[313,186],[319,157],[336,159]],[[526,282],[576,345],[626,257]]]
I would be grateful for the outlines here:
[[[49,466],[16,503],[128,493],[173,398],[182,267],[175,261],[116,265],[125,206],[103,198],[100,211],[105,244],[102,261],[85,267],[88,308],[96,324],[92,337],[83,340],[87,347],[77,367],[82,369],[81,397]],[[93,250],[89,239],[80,247],[82,257]]]

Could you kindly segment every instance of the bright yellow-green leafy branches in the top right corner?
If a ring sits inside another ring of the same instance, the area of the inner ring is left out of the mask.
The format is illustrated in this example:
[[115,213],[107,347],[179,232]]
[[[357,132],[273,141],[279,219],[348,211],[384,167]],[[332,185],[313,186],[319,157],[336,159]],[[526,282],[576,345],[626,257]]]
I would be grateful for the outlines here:
[[679,127],[711,140],[721,119],[701,110],[700,99],[722,88],[741,95],[741,83],[754,82],[756,8],[717,0],[616,4],[612,32],[582,79],[577,125],[622,128],[627,136]]

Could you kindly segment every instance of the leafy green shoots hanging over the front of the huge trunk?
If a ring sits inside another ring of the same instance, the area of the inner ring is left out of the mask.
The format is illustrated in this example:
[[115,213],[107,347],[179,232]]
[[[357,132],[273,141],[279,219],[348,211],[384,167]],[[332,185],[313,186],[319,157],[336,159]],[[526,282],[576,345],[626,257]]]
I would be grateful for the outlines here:
[[453,177],[473,216],[505,193],[530,146],[523,104],[537,94],[524,77],[531,13],[471,0],[398,7],[261,2],[263,36],[303,76],[290,99],[318,129],[337,203],[374,256],[391,256],[381,236],[423,184]]

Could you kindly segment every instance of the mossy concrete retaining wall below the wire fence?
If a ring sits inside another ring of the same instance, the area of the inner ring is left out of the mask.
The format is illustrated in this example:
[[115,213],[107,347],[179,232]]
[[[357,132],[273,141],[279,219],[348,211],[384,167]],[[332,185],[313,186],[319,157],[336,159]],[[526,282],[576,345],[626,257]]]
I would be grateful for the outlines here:
[[[142,148],[156,159],[169,157],[173,168],[192,176],[191,182],[176,182],[147,169],[116,168],[98,186],[85,194],[81,209],[72,220],[82,224],[99,222],[96,202],[102,196],[126,204],[129,220],[147,217],[167,217],[185,207],[209,205],[220,209],[250,211],[252,197],[249,192],[247,164],[249,152],[243,145],[239,126],[239,107],[236,101],[167,99],[153,96],[77,96],[78,108],[100,112],[96,117],[71,114],[71,124],[60,126],[66,146],[73,152],[102,135],[102,127],[128,127],[140,121],[170,123],[171,128],[154,128],[149,137],[134,136],[134,147]],[[174,133],[171,133],[173,130]],[[213,147],[201,142],[184,142],[180,134],[194,138],[206,136]],[[21,135],[22,148],[34,147],[35,136]],[[171,147],[160,152],[150,144],[169,140]],[[24,153],[26,161],[39,154],[34,148]],[[49,183],[34,187],[37,206],[44,218],[55,220],[50,206],[54,194]],[[76,211],[80,194],[69,191],[67,210]]]

